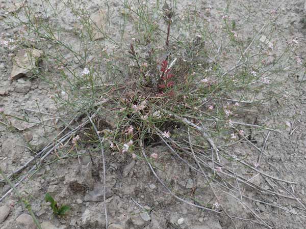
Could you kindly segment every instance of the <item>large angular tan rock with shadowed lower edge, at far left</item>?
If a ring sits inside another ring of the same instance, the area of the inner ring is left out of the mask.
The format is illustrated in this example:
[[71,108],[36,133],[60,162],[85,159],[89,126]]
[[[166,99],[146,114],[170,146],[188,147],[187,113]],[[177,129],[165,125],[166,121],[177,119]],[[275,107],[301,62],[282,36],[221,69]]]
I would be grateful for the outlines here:
[[15,80],[22,76],[31,76],[36,68],[43,52],[38,49],[21,49],[13,61],[11,79]]

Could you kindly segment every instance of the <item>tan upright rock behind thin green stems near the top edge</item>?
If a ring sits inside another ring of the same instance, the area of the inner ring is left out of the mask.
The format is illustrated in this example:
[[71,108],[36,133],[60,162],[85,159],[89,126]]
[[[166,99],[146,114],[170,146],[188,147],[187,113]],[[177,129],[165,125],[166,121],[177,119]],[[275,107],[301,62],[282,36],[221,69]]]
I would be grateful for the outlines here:
[[98,10],[90,15],[92,20],[92,34],[93,40],[102,39],[105,37],[104,30],[107,23],[107,11],[106,10]]

